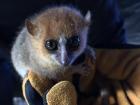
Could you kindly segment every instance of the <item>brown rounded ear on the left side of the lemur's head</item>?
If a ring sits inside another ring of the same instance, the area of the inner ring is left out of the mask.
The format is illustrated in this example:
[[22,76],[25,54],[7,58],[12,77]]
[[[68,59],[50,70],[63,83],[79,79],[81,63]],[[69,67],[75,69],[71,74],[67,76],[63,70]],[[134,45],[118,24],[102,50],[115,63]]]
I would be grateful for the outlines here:
[[29,19],[26,19],[25,20],[25,25],[26,25],[26,28],[27,28],[28,32],[32,36],[34,36],[35,34],[37,34],[37,31],[38,31],[37,25],[33,24]]

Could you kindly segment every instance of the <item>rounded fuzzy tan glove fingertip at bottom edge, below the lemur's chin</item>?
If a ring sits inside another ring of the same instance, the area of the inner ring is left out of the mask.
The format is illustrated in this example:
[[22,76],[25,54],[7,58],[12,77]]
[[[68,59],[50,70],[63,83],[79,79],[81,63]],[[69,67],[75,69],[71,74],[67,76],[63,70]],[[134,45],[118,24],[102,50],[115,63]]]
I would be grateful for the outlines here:
[[48,105],[77,105],[75,87],[69,81],[54,85],[46,95]]

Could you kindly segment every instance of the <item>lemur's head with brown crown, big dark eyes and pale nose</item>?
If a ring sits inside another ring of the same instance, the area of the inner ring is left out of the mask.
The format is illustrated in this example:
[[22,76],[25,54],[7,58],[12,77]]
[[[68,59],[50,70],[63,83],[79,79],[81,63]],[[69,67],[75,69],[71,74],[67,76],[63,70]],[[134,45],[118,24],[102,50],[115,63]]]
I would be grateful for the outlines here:
[[59,66],[71,65],[84,51],[90,24],[86,16],[70,7],[53,7],[26,20],[32,46],[42,60]]

